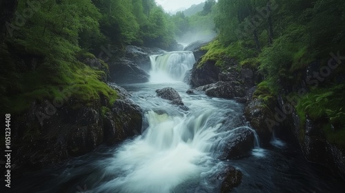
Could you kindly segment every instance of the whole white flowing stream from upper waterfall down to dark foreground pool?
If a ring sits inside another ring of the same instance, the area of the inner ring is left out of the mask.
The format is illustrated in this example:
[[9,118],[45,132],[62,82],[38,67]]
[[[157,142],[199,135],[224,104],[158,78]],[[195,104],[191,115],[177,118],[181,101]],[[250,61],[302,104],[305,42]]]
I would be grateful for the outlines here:
[[[252,130],[242,116],[244,105],[186,94],[189,87],[182,80],[195,63],[193,52],[168,52],[150,60],[149,83],[122,85],[144,110],[141,134],[24,176],[13,192],[219,192],[219,174],[228,165],[243,173],[233,192],[344,190],[342,181],[307,163],[297,148],[277,138],[265,149],[256,139],[254,150],[242,159],[219,160],[235,131]],[[175,88],[189,110],[156,95],[155,90],[166,87]]]

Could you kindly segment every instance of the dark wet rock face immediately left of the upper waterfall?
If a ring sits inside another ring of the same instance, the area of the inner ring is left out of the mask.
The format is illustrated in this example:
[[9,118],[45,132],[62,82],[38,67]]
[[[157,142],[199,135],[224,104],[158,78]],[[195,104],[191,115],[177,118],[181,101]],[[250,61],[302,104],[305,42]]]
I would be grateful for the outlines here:
[[109,63],[110,76],[115,83],[146,83],[150,75],[128,59]]

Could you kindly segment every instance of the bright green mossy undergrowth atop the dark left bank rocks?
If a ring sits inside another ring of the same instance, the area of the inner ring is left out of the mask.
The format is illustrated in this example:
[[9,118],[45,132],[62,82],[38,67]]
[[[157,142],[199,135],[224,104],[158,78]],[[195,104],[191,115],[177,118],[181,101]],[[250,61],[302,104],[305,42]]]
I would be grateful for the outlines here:
[[34,69],[28,69],[6,50],[6,45],[2,48],[0,105],[4,113],[23,112],[34,100],[66,104],[73,98],[78,105],[92,105],[101,95],[110,103],[118,97],[115,90],[100,81],[103,71],[93,70],[76,60],[63,59],[44,59]]

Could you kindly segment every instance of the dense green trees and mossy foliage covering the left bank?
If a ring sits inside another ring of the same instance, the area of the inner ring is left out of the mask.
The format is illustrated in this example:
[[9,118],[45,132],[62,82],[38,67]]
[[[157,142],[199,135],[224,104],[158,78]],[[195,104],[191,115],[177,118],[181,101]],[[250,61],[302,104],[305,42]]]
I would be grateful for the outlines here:
[[19,1],[14,11],[12,23],[1,21],[8,34],[0,51],[0,105],[11,112],[45,99],[88,105],[105,96],[111,103],[117,93],[102,82],[104,72],[81,58],[95,59],[108,45],[168,48],[175,38],[174,23],[154,0]]

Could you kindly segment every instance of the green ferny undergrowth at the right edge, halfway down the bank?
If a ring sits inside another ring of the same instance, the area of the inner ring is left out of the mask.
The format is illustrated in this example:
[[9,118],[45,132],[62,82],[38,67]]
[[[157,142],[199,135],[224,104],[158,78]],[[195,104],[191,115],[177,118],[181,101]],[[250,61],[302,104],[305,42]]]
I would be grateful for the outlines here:
[[[297,114],[304,128],[306,117],[313,121],[322,121],[323,131],[331,143],[345,149],[345,84],[329,88],[317,88],[301,97],[297,103]],[[331,128],[333,125],[334,129]]]

